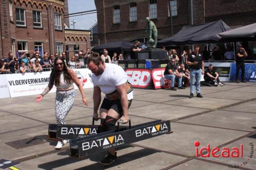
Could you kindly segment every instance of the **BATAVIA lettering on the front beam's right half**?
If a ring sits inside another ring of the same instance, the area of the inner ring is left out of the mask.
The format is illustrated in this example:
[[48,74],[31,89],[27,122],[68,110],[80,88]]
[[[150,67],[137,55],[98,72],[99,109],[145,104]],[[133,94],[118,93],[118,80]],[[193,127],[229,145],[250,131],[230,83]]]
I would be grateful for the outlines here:
[[168,132],[168,128],[166,124],[159,124],[159,125],[136,130],[135,134],[136,134],[136,137],[140,137],[145,134],[151,134],[152,136],[154,136],[154,135],[158,135],[165,132]]

